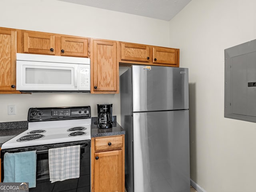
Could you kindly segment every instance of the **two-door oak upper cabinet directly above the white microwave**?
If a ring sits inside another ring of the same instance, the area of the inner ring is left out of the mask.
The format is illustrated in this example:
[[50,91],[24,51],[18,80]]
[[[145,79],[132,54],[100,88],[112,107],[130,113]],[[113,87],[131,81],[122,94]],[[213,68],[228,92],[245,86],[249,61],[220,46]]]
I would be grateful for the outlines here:
[[18,53],[88,57],[88,38],[19,30]]

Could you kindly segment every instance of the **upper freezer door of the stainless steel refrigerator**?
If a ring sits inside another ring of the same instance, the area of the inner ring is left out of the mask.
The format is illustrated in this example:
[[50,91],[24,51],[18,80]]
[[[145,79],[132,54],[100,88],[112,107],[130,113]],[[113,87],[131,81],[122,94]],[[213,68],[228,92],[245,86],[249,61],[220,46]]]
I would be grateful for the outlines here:
[[188,69],[132,66],[133,112],[188,109]]

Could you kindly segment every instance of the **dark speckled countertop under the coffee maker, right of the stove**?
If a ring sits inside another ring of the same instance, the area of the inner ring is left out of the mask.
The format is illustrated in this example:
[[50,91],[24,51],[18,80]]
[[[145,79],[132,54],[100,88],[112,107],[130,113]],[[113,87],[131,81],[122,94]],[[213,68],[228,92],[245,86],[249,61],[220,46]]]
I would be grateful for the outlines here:
[[114,136],[114,135],[123,135],[125,134],[124,129],[116,122],[115,117],[113,120],[112,128],[99,129],[97,123],[98,118],[92,117],[91,125],[91,137],[104,137],[104,136]]

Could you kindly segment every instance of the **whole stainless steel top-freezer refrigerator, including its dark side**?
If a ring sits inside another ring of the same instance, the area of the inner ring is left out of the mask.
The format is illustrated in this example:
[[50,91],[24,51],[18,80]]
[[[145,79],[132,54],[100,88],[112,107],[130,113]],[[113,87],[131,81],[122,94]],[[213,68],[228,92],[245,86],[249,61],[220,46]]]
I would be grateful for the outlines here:
[[120,97],[127,192],[190,192],[188,69],[133,65]]

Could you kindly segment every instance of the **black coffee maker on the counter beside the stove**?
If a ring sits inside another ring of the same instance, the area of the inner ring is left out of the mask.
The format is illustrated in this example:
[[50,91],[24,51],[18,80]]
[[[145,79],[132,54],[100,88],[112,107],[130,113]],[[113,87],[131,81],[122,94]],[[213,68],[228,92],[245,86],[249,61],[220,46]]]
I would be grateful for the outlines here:
[[106,129],[112,127],[112,105],[113,104],[97,104],[98,128]]

